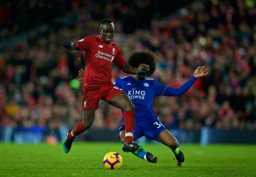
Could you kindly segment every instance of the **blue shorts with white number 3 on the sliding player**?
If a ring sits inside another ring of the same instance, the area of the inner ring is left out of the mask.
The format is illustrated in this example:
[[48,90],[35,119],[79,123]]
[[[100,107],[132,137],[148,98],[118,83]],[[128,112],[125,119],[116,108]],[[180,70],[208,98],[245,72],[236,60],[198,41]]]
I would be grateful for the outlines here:
[[[119,137],[120,131],[125,130],[125,125],[123,124],[118,129],[117,137]],[[145,136],[149,140],[156,140],[158,141],[159,134],[166,130],[165,126],[160,122],[159,118],[151,119],[144,121],[143,123],[135,123],[134,126],[134,136],[135,140],[139,139],[140,137]]]

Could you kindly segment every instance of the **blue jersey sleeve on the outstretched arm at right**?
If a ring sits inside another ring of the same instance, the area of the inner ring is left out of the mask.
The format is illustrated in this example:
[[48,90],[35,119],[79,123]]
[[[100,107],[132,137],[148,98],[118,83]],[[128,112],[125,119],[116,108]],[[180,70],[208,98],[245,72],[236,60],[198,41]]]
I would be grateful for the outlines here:
[[156,82],[155,88],[154,88],[155,93],[156,95],[180,97],[195,83],[196,80],[197,78],[195,78],[194,76],[191,76],[189,80],[187,80],[186,83],[184,83],[179,88],[164,86],[160,83],[157,83],[157,81],[154,80]]

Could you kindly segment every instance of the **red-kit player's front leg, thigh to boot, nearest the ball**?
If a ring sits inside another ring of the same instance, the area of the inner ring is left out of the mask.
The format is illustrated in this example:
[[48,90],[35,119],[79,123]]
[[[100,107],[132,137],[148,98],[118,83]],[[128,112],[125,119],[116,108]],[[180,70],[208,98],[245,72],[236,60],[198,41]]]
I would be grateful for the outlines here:
[[124,110],[125,141],[122,150],[125,152],[139,154],[141,151],[143,151],[143,147],[132,141],[135,124],[134,104],[131,102],[128,95],[124,92],[113,97],[109,103],[117,108]]

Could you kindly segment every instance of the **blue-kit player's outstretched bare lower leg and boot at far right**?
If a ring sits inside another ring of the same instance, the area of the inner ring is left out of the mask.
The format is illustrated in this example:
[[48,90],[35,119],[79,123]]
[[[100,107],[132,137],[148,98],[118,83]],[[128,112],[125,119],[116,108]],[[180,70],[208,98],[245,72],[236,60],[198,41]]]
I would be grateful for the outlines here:
[[175,157],[178,161],[178,164],[184,162],[183,152],[179,149],[179,143],[177,139],[170,133],[168,130],[164,130],[159,134],[158,141],[168,146],[172,152],[175,154]]

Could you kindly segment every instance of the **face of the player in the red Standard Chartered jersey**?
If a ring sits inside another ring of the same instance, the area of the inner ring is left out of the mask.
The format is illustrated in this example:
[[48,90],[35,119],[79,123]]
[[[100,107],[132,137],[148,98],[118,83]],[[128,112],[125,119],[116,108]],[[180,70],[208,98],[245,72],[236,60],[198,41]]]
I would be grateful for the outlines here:
[[113,39],[115,33],[115,26],[113,23],[104,23],[99,29],[100,37],[105,41],[105,43],[110,43]]

